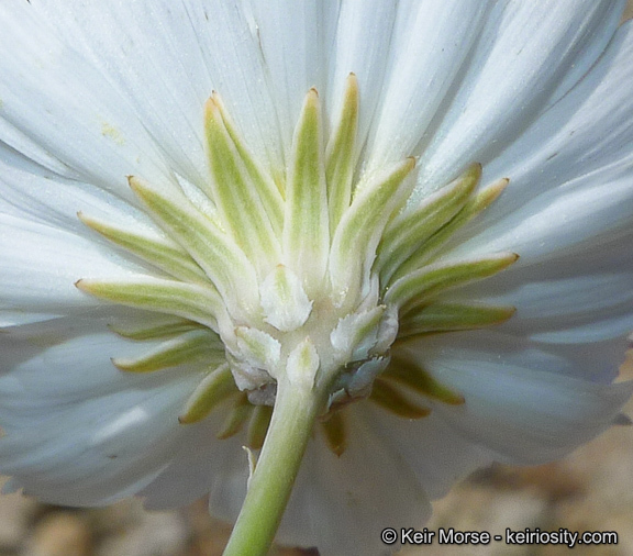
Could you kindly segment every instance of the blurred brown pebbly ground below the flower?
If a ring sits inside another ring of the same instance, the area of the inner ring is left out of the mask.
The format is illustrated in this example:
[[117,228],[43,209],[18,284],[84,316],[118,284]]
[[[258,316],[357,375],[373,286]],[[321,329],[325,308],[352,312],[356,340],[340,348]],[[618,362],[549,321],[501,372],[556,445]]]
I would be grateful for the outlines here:
[[[625,19],[633,16],[629,1]],[[633,63],[633,60],[632,60]],[[622,366],[633,379],[633,354]],[[625,408],[633,416],[633,401]],[[0,478],[0,483],[5,479]],[[633,555],[633,427],[614,426],[567,458],[537,467],[497,465],[476,472],[433,504],[426,527],[488,531],[615,531],[617,545],[574,548],[574,556]],[[376,535],[379,534],[377,524]],[[385,523],[384,525],[387,525]],[[0,497],[0,556],[220,556],[231,527],[212,520],[207,501],[173,512],[146,512],[138,500],[104,509],[41,504],[21,494]],[[436,537],[435,537],[436,538]],[[276,547],[278,556],[315,551]],[[441,554],[556,556],[556,545],[438,546],[404,549],[400,556]],[[368,555],[371,556],[371,555]]]

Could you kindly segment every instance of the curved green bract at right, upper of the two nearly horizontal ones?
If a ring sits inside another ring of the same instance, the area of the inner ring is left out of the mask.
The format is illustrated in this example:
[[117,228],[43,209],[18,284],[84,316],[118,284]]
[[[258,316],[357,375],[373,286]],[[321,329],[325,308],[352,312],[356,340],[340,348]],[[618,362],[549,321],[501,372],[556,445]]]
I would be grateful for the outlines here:
[[429,265],[396,281],[387,291],[385,300],[399,307],[402,318],[440,291],[493,276],[518,258],[515,253],[499,253],[474,260]]

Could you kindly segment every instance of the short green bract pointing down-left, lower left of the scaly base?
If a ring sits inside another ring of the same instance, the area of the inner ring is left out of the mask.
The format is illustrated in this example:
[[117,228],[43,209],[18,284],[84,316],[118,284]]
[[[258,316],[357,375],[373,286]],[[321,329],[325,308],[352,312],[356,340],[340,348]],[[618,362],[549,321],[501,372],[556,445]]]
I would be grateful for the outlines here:
[[198,423],[218,404],[237,392],[229,365],[223,364],[207,375],[196,387],[178,416],[178,422],[181,424]]

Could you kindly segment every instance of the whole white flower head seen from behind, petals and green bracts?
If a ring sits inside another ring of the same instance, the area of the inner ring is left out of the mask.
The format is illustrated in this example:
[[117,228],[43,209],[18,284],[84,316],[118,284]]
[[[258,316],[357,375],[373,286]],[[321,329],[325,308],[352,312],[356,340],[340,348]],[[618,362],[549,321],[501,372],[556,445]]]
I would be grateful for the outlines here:
[[308,442],[278,540],[375,554],[617,422],[624,4],[0,3],[9,489],[234,520],[277,402],[249,497]]

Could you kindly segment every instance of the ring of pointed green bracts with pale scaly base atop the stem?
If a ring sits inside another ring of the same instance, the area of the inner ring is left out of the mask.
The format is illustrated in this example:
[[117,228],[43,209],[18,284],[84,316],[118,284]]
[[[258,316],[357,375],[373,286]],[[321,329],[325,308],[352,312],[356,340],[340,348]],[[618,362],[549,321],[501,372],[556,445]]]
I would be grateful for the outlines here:
[[[157,270],[124,280],[81,279],[81,290],[162,313],[114,331],[155,347],[113,359],[124,371],[196,366],[201,379],[179,416],[197,422],[230,405],[220,437],[248,424],[266,434],[279,380],[327,393],[322,424],[345,446],[343,409],[369,398],[406,418],[429,413],[422,398],[463,403],[400,346],[425,334],[503,322],[513,308],[446,301],[446,290],[492,276],[512,253],[440,259],[454,232],[488,207],[507,181],[476,192],[473,165],[417,208],[403,210],[413,158],[358,173],[358,90],[347,80],[325,145],[318,92],[308,92],[284,179],[251,155],[220,97],[206,105],[210,179],[200,187],[130,177],[158,233],[79,214],[82,222]],[[411,396],[414,394],[414,397]]]

